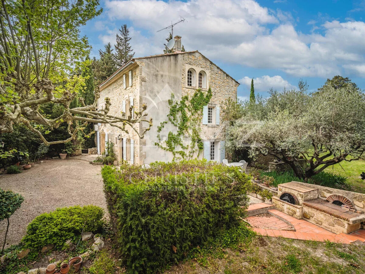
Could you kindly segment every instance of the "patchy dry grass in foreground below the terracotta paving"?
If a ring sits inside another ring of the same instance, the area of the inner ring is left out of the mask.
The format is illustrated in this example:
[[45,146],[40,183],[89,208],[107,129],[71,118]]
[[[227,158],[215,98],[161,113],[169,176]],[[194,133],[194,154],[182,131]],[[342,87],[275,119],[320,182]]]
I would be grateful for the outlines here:
[[197,255],[171,267],[180,273],[364,273],[365,246],[257,236],[245,247],[224,249],[221,256]]

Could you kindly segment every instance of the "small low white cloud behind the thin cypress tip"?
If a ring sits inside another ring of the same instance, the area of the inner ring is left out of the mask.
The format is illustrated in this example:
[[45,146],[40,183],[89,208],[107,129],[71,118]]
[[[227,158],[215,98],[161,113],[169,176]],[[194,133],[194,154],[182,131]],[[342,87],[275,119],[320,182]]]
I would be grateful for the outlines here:
[[[243,77],[238,80],[238,82],[242,85],[245,85],[248,90],[251,88],[251,78]],[[264,75],[261,77],[257,77],[253,79],[253,85],[255,88],[255,92],[267,92],[270,88],[274,90],[281,91],[283,88],[291,89],[295,88],[294,85],[290,84],[287,80],[284,80],[280,75],[275,75],[270,77],[269,75]]]

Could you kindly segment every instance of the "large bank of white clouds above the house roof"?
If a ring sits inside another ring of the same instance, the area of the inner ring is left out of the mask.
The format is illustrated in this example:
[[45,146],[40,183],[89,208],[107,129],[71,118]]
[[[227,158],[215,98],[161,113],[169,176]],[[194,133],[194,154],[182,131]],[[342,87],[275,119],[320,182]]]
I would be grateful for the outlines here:
[[[136,56],[161,53],[168,30],[156,31],[183,16],[186,20],[174,27],[174,35],[183,37],[186,50],[197,49],[213,60],[279,69],[298,77],[358,74],[365,64],[364,22],[328,21],[302,34],[290,13],[275,12],[254,0],[112,0],[105,2],[104,10],[110,22],[131,22]],[[314,33],[319,27],[323,34]],[[115,41],[115,31],[106,29],[99,38]]]

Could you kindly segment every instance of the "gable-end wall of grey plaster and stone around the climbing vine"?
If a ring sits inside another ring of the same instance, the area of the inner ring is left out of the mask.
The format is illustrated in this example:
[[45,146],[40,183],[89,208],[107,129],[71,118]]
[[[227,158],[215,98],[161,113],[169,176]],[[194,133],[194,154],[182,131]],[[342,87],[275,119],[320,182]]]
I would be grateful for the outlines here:
[[[185,73],[189,68],[194,68],[197,75],[201,70],[206,73],[207,87],[211,87],[212,90],[210,105],[218,107],[222,100],[228,97],[237,98],[238,84],[198,52],[139,58],[137,61],[141,70],[141,100],[147,104],[148,117],[153,118],[151,130],[141,141],[140,149],[144,164],[173,159],[172,152],[155,145],[155,142],[158,142],[157,127],[161,122],[168,121],[167,114],[170,111],[168,100],[171,99],[172,93],[174,99],[180,101],[182,96],[188,95],[191,98],[196,92],[196,86],[187,87],[186,85],[187,75]],[[202,90],[207,91],[208,89]],[[201,138],[203,141],[225,140],[226,125],[222,119],[222,111],[220,111],[220,125],[203,125],[203,121],[201,121]],[[160,132],[162,144],[167,140],[170,131],[176,133],[177,128],[168,122]],[[185,134],[183,142],[185,145],[191,143],[187,134]],[[180,150],[180,148],[176,148],[176,150]],[[194,155],[194,157],[196,156],[197,154]],[[203,159],[203,151],[200,152],[199,159]]]

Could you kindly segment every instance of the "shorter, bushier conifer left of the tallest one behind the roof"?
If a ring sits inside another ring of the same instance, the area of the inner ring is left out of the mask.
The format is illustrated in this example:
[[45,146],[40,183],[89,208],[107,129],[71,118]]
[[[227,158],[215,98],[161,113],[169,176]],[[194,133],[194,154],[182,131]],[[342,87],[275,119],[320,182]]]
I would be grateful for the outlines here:
[[99,50],[100,59],[94,58],[92,62],[92,69],[94,75],[94,85],[100,85],[103,81],[107,80],[116,71],[115,59],[113,56],[113,49],[110,43],[107,43],[105,50]]

